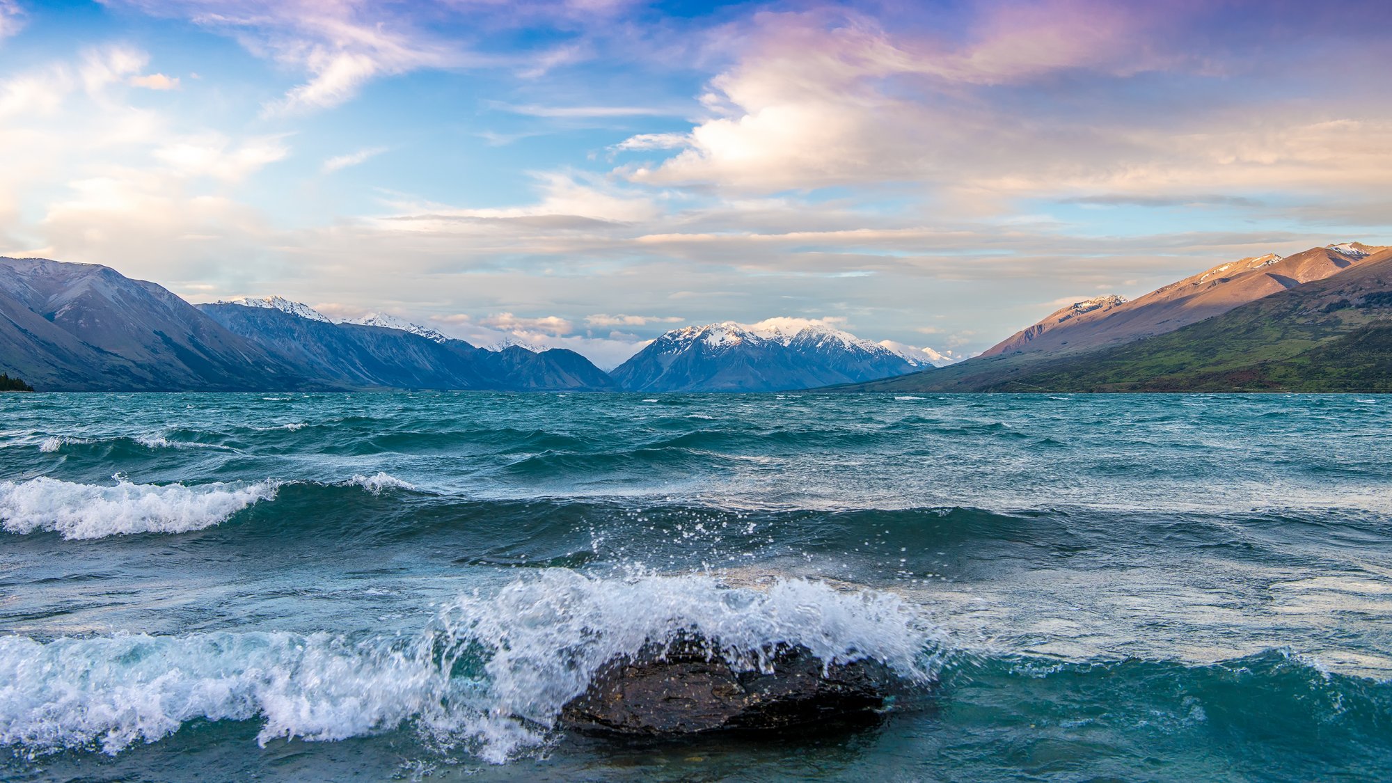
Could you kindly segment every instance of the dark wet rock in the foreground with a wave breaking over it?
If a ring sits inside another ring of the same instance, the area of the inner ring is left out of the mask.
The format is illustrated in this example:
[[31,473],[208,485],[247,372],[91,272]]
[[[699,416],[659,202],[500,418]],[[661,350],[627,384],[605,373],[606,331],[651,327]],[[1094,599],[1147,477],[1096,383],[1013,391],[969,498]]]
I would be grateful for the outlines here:
[[784,729],[874,718],[891,699],[895,677],[877,662],[824,666],[805,646],[771,652],[771,672],[742,672],[699,637],[647,645],[600,669],[561,724],[646,736]]

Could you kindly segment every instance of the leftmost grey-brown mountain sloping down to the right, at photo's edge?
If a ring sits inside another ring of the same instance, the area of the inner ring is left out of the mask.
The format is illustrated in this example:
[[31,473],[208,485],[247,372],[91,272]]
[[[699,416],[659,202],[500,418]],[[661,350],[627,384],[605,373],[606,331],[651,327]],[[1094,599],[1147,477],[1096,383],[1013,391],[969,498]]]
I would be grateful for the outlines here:
[[155,283],[35,258],[0,258],[0,371],[64,392],[306,385],[294,368]]

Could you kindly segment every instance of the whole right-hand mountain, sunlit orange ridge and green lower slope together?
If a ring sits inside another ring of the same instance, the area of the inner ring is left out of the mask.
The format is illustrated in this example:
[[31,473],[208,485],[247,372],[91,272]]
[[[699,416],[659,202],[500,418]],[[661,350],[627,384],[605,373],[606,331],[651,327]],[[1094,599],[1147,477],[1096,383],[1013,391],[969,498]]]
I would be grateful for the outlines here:
[[948,368],[848,392],[1392,392],[1392,248],[1224,263],[1065,307]]

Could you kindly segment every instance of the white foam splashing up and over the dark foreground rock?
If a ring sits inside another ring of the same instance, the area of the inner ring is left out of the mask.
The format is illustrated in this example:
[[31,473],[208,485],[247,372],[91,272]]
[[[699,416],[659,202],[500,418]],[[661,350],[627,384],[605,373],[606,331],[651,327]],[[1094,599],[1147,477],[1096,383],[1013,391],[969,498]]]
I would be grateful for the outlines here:
[[[933,674],[920,658],[930,630],[899,596],[803,580],[756,591],[706,575],[600,580],[548,568],[497,596],[464,598],[440,621],[493,648],[490,712],[540,726],[553,726],[601,665],[682,631],[717,639],[720,655],[743,670],[768,670],[768,646],[784,642],[827,665],[876,659],[909,680]],[[482,738],[480,755],[498,762],[543,737],[494,722]]]

